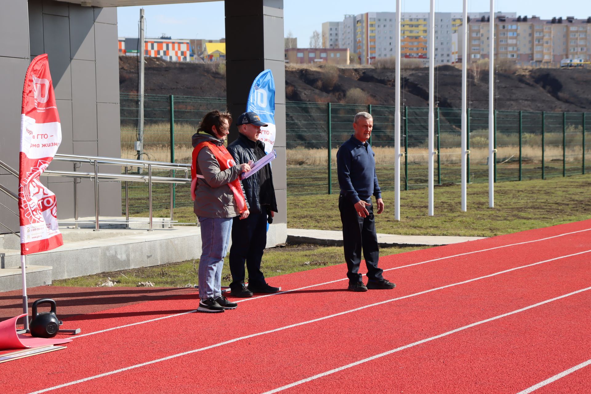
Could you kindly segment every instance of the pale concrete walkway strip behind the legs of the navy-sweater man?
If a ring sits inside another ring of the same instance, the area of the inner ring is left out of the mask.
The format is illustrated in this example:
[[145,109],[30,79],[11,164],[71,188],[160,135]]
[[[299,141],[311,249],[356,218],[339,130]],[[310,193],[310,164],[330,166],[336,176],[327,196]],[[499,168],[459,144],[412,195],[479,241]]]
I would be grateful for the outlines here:
[[[483,239],[483,237],[415,236],[378,233],[380,248],[392,246],[439,246]],[[288,243],[310,243],[323,246],[343,246],[343,233],[332,230],[287,229]]]

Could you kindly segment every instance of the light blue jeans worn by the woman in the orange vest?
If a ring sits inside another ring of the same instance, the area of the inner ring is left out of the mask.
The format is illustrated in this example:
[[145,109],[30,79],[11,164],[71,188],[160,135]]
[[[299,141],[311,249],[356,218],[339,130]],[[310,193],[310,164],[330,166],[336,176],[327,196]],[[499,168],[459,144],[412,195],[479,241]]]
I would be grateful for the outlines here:
[[199,217],[201,225],[201,258],[199,259],[199,298],[222,295],[223,259],[228,253],[232,218]]

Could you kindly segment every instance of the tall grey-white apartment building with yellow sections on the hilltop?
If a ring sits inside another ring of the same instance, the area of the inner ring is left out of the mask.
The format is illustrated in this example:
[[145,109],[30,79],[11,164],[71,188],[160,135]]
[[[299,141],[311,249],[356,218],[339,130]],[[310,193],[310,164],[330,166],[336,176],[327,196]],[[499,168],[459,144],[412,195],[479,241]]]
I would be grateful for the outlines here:
[[[486,18],[488,15],[487,12],[471,12],[469,17]],[[517,16],[515,12],[502,15]],[[349,48],[360,64],[371,64],[376,59],[391,57],[396,48],[395,16],[395,12],[366,12],[345,15],[342,22],[324,22],[323,43]],[[428,16],[428,12],[402,13],[400,50],[403,57],[427,60],[430,56],[427,50]],[[436,12],[435,20],[436,64],[456,63],[459,50],[457,32],[462,25],[462,13]],[[324,41],[325,38],[327,41]],[[330,41],[331,38],[333,41]]]

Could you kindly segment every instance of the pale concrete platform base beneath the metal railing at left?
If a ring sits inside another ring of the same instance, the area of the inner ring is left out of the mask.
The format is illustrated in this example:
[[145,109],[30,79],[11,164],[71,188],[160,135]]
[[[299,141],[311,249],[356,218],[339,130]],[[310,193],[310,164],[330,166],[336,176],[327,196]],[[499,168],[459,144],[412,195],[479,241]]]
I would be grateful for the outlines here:
[[[201,255],[201,229],[176,226],[173,229],[60,229],[64,245],[47,252],[27,256],[28,265],[51,266],[48,278],[66,279],[144,266],[155,266],[198,259]],[[12,236],[18,240],[18,237]],[[267,247],[284,243],[287,224],[269,226]],[[17,244],[18,245],[18,244]],[[20,246],[17,246],[20,248]],[[0,249],[0,268],[18,270],[20,288],[20,250]],[[7,271],[8,272],[8,271]],[[12,279],[11,279],[12,280]],[[0,291],[15,289],[6,279]],[[39,283],[38,285],[42,285]]]

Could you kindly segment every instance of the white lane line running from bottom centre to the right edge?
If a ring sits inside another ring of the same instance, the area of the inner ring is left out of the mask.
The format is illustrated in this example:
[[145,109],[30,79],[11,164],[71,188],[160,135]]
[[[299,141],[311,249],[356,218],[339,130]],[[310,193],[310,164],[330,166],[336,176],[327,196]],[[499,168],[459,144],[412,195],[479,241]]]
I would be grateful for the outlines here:
[[307,377],[306,379],[298,380],[297,382],[293,382],[293,383],[290,383],[289,385],[281,386],[280,388],[277,388],[277,389],[274,389],[274,390],[266,391],[266,392],[264,392],[262,394],[277,393],[277,392],[280,392],[280,391],[283,391],[283,390],[292,388],[294,386],[301,385],[302,383],[307,383],[307,382],[310,382],[311,380],[318,379],[319,377],[331,375],[331,374],[333,374],[335,372],[339,372],[339,371],[342,371],[342,370],[345,370],[345,369],[348,369],[348,368],[351,368],[351,367],[355,367],[355,366],[358,366],[359,364],[363,364],[363,363],[366,363],[366,362],[369,362],[369,361],[372,361],[372,360],[375,360],[375,359],[379,359],[380,357],[388,356],[389,354],[396,353],[397,351],[401,351],[401,350],[408,349],[408,348],[413,347],[413,346],[420,345],[421,343],[426,343],[428,341],[433,341],[433,340],[439,339],[441,337],[445,337],[445,336],[448,336],[448,335],[451,335],[451,334],[455,334],[455,333],[457,333],[459,331],[467,330],[468,328],[475,327],[476,325],[485,324],[485,323],[488,323],[489,321],[497,320],[497,319],[500,319],[500,318],[503,318],[503,317],[506,317],[506,316],[509,316],[509,315],[513,315],[513,314],[519,313],[519,312],[527,311],[528,309],[539,307],[540,305],[548,304],[548,302],[556,301],[557,299],[561,299],[561,298],[566,298],[566,297],[569,297],[569,296],[574,295],[574,294],[579,294],[580,292],[587,291],[587,290],[590,290],[590,289],[591,289],[591,287],[587,287],[587,288],[584,288],[584,289],[580,289],[580,290],[577,290],[577,291],[570,292],[569,294],[560,295],[560,296],[555,297],[555,298],[547,299],[546,301],[538,302],[537,304],[533,304],[533,305],[530,305],[530,306],[525,307],[525,308],[521,308],[521,309],[518,309],[518,310],[515,310],[515,311],[512,311],[512,312],[507,312],[507,313],[504,313],[502,315],[498,315],[498,316],[495,316],[495,317],[488,318],[486,320],[480,320],[480,321],[477,321],[476,323],[468,324],[468,325],[465,325],[463,327],[456,328],[455,330],[452,330],[452,331],[447,331],[447,333],[439,334],[439,335],[436,335],[434,337],[425,338],[425,339],[422,339],[420,341],[409,343],[407,345],[404,345],[404,346],[401,346],[401,347],[397,347],[396,349],[384,351],[384,353],[376,354],[375,356],[371,356],[371,357],[368,357],[366,359],[356,361],[355,363],[350,363],[350,364],[347,364],[347,365],[343,365],[342,367],[331,369],[330,371],[319,373],[318,375],[310,376],[310,377]]

